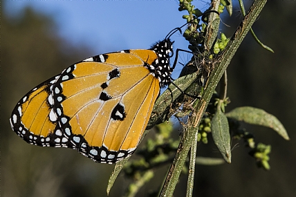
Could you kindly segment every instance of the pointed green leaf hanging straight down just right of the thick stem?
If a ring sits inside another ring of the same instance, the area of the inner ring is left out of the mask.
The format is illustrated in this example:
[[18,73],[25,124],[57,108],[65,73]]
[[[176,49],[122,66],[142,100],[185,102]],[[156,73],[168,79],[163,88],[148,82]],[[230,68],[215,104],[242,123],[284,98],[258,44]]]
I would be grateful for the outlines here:
[[212,136],[216,147],[219,149],[224,160],[228,163],[231,162],[230,150],[230,131],[226,115],[221,111],[221,104],[223,100],[219,100],[217,111],[212,118]]

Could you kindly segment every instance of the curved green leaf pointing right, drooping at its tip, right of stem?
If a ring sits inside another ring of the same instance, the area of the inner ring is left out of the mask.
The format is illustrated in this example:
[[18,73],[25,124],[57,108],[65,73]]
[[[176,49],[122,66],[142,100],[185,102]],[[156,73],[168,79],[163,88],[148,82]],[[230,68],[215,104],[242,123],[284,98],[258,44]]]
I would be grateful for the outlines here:
[[263,109],[257,109],[252,106],[241,106],[236,109],[233,109],[229,113],[226,113],[228,118],[233,118],[235,120],[247,122],[249,124],[257,124],[261,126],[269,127],[285,140],[290,140],[286,129],[279,120],[270,113],[267,113]]

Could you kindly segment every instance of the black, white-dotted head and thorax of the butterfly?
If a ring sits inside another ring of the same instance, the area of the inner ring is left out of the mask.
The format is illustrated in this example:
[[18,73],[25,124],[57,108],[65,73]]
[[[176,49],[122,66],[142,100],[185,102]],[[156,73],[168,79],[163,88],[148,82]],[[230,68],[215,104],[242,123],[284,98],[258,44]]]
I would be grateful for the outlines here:
[[160,86],[166,86],[172,82],[173,68],[169,65],[169,58],[174,55],[173,43],[169,38],[158,41],[150,50],[154,50],[157,59],[148,66],[149,71],[159,80]]

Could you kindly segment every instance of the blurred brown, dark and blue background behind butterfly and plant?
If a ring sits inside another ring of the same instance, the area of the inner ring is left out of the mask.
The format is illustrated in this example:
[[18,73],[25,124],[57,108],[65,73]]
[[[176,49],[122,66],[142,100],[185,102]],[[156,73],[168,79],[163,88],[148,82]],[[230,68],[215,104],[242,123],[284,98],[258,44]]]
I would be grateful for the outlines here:
[[[201,10],[209,4],[195,2]],[[228,68],[232,102],[226,109],[264,109],[279,118],[291,140],[285,141],[271,129],[243,125],[257,142],[272,145],[271,170],[258,169],[239,141],[232,151],[232,164],[196,167],[194,196],[296,196],[295,9],[293,1],[268,1],[263,8],[253,30],[275,53],[261,48],[250,34],[246,37]],[[81,59],[149,48],[183,25],[185,14],[178,12],[177,1],[1,1],[1,195],[107,196],[113,165],[97,164],[71,149],[27,144],[10,129],[12,109],[30,89]],[[234,2],[233,16],[222,15],[227,26],[222,25],[221,31],[230,37],[242,18]],[[175,48],[187,49],[181,35],[172,39]],[[181,62],[189,59],[181,54]],[[181,69],[178,65],[175,78]],[[211,142],[200,144],[197,153],[220,157]],[[168,168],[158,169],[138,196],[158,189]],[[186,180],[181,176],[174,196],[185,196]],[[121,175],[110,196],[122,196],[129,182]]]

